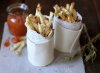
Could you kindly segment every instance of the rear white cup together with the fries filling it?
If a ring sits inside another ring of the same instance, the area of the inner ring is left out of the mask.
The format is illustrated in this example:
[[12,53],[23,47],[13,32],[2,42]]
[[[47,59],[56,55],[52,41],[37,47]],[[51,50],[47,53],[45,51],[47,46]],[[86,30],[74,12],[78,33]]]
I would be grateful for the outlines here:
[[74,9],[75,3],[66,7],[53,7],[55,10],[53,28],[55,29],[55,48],[60,52],[72,53],[83,29],[82,16]]

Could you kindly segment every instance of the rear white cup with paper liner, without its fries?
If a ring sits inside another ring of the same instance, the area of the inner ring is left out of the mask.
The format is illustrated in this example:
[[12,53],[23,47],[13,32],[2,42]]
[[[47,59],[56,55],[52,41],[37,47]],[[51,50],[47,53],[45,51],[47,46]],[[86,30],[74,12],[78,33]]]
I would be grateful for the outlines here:
[[74,46],[79,42],[79,37],[83,29],[82,17],[78,13],[80,22],[69,23],[54,18],[53,25],[55,29],[55,48],[60,52],[72,53]]

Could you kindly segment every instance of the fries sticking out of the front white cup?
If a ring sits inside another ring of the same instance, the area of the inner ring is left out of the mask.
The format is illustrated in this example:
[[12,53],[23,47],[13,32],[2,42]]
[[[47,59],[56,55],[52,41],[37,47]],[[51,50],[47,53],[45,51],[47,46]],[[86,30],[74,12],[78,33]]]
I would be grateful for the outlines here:
[[35,15],[29,14],[26,17],[25,26],[29,29],[36,31],[44,37],[50,38],[53,33],[53,12],[50,12],[49,17],[42,15],[40,4],[37,5]]

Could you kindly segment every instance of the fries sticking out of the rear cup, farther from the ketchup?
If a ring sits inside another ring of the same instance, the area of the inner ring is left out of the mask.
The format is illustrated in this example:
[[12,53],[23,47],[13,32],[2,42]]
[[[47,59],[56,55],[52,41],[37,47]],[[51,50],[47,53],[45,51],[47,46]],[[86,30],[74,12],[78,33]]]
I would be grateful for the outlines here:
[[53,7],[55,10],[55,16],[70,23],[79,22],[80,19],[77,16],[77,12],[74,9],[75,3],[66,4],[66,7],[59,7],[57,4]]

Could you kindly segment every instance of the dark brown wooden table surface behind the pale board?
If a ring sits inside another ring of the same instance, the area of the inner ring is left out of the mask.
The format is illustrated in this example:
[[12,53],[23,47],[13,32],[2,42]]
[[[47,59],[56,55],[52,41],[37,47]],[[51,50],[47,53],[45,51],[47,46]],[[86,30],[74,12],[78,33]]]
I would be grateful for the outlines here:
[[[7,17],[6,7],[9,4],[24,2],[29,5],[30,13],[34,14],[37,3],[41,3],[43,13],[49,14],[49,11],[54,11],[52,7],[55,4],[65,5],[73,1],[76,3],[75,8],[83,16],[83,23],[86,24],[90,37],[92,38],[97,33],[100,33],[100,0],[3,0],[0,1],[0,41],[2,39],[3,23],[6,21]],[[81,43],[83,44],[83,41],[81,41]],[[97,58],[94,63],[91,61],[84,62],[86,73],[100,73],[100,41],[98,41],[95,46],[98,48]]]

